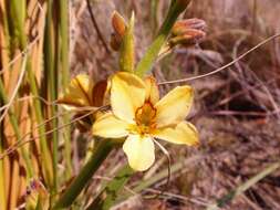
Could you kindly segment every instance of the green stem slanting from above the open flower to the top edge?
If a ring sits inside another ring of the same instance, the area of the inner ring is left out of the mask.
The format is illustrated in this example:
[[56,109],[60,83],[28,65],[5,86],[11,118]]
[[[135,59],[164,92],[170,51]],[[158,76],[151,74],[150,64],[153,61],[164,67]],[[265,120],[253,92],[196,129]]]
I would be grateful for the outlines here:
[[145,75],[148,71],[151,71],[153,64],[155,63],[157,55],[162,49],[162,46],[165,44],[169,32],[179,17],[179,14],[186,9],[187,4],[190,2],[190,0],[185,0],[184,4],[180,3],[180,0],[174,0],[170,4],[169,11],[167,13],[167,17],[158,32],[158,35],[156,36],[155,41],[151,44],[148,50],[146,51],[145,55],[138,63],[136,67],[136,74],[139,76]]

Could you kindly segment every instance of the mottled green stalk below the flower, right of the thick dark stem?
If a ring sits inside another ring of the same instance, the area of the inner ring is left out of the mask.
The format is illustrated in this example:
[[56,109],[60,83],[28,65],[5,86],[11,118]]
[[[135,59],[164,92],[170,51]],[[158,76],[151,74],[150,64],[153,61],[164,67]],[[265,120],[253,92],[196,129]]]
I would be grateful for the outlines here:
[[122,167],[114,179],[106,185],[106,187],[89,206],[87,210],[108,210],[116,201],[118,191],[125,186],[133,174],[134,170],[128,165]]

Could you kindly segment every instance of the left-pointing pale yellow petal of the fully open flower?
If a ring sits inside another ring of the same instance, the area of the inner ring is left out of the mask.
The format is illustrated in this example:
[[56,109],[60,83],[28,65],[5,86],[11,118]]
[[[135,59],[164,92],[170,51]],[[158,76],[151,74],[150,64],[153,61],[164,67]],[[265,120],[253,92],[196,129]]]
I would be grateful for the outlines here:
[[104,138],[121,138],[128,135],[128,124],[113,113],[101,114],[92,126],[92,134]]

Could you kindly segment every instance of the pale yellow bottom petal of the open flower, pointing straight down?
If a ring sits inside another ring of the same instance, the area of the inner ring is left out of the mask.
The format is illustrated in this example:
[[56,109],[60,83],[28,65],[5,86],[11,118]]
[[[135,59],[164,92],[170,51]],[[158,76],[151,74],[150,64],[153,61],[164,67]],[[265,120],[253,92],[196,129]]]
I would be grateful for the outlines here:
[[134,170],[147,170],[155,161],[155,145],[151,137],[129,135],[124,141],[123,149]]

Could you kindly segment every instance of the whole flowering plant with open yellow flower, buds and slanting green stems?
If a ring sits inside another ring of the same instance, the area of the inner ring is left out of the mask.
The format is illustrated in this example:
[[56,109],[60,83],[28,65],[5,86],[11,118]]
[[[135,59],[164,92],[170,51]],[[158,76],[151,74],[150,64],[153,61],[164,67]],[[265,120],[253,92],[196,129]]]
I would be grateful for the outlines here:
[[75,116],[82,132],[90,132],[95,140],[94,151],[80,174],[58,199],[53,209],[69,208],[113,148],[122,147],[128,165],[117,171],[87,209],[108,209],[117,200],[117,191],[137,171],[145,171],[155,162],[157,139],[177,145],[197,146],[198,132],[186,122],[194,91],[190,86],[177,86],[162,98],[156,78],[151,75],[153,64],[176,46],[196,44],[205,36],[205,22],[199,19],[177,21],[190,0],[173,0],[168,13],[154,42],[142,60],[135,64],[134,22],[117,12],[112,14],[114,33],[111,46],[118,52],[120,71],[106,81],[93,80],[80,74],[59,96],[65,109]]

